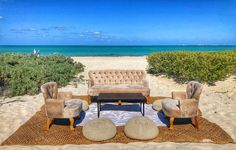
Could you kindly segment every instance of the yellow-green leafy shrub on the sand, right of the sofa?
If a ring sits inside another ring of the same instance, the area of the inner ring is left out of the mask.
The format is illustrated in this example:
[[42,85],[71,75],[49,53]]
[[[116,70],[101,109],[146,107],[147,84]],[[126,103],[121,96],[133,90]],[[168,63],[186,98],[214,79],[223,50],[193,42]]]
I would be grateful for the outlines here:
[[177,82],[197,80],[214,84],[236,71],[236,51],[161,52],[147,57],[148,71],[166,75]]

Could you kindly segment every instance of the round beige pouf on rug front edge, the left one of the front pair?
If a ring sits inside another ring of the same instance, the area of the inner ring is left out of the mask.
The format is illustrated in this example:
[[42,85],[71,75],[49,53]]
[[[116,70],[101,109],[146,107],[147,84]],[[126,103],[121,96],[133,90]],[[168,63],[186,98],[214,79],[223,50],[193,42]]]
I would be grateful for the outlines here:
[[116,135],[116,126],[110,119],[97,118],[87,122],[83,126],[82,133],[91,141],[104,141]]

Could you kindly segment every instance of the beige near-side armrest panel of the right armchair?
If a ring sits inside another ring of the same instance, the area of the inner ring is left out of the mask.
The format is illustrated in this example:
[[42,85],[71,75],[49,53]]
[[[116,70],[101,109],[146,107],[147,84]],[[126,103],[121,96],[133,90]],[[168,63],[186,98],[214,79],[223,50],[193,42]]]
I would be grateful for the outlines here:
[[180,108],[182,116],[184,117],[197,116],[198,101],[195,99],[179,100],[179,108]]

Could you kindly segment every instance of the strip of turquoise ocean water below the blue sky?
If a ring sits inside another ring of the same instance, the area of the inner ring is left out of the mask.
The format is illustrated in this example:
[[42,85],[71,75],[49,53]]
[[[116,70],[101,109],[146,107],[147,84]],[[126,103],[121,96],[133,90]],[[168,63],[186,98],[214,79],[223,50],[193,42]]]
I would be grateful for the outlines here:
[[223,51],[236,50],[236,45],[161,45],[161,46],[48,46],[48,45],[0,45],[1,52],[33,53],[40,49],[41,55],[62,54],[66,56],[143,56],[166,51]]

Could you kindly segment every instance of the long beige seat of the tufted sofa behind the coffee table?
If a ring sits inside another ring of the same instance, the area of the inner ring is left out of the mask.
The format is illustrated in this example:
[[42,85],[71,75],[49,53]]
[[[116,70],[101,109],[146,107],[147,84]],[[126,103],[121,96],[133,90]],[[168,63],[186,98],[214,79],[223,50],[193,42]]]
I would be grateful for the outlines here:
[[142,93],[148,96],[150,89],[139,84],[110,84],[110,85],[94,85],[88,90],[91,96],[98,96],[99,93]]

